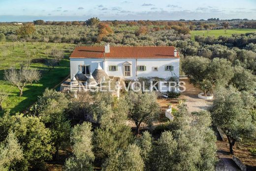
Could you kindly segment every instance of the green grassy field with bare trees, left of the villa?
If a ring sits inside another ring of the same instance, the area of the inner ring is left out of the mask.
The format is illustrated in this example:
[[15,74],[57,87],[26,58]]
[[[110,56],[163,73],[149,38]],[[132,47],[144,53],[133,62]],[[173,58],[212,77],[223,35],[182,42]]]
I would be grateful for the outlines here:
[[[53,70],[49,71],[49,68],[44,64],[44,60],[47,58],[45,51],[52,47],[64,50],[65,56],[60,66],[56,66]],[[12,42],[0,44],[0,89],[9,92],[9,97],[3,102],[3,108],[9,109],[11,113],[22,112],[37,100],[37,97],[44,92],[45,88],[53,88],[59,84],[69,74],[68,57],[72,47],[74,45],[65,43],[32,44],[19,42],[15,43],[14,46]],[[2,55],[3,49],[8,49],[8,55],[5,59]],[[27,60],[31,60],[32,68],[40,70],[42,77],[38,83],[26,86],[23,97],[19,97],[19,90],[4,80],[4,69],[11,66],[18,68],[21,62]]]

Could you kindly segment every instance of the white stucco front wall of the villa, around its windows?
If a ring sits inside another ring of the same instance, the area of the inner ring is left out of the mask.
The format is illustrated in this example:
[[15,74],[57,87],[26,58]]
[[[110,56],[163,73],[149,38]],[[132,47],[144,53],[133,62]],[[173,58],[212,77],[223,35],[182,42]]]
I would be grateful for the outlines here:
[[[124,76],[124,63],[131,63],[131,76]],[[145,71],[136,71],[136,59],[106,59],[103,65],[103,59],[70,59],[70,75],[78,72],[79,65],[91,65],[91,72],[93,72],[98,63],[106,71],[109,76],[121,76],[127,79],[137,79],[138,77],[156,76],[160,78],[167,78],[170,76],[179,77],[179,62],[180,59],[137,59],[137,66],[146,66]],[[109,71],[108,66],[118,66],[117,71]],[[173,71],[165,71],[166,65],[172,65]],[[105,68],[103,67],[105,66]],[[158,71],[153,71],[153,67],[158,67]]]

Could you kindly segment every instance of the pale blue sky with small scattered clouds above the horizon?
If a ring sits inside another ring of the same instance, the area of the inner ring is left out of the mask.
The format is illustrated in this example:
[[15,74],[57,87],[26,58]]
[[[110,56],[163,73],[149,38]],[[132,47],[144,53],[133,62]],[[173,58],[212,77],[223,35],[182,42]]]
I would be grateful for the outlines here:
[[0,0],[0,22],[256,19],[256,0]]

